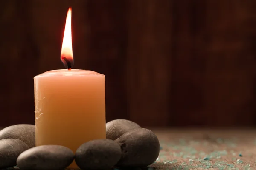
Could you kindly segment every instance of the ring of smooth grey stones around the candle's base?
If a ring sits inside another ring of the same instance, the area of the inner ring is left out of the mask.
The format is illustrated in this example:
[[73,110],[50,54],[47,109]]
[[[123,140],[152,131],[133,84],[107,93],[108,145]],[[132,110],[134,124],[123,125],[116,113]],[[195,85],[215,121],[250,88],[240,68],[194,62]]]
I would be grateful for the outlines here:
[[81,169],[146,167],[160,151],[157,136],[134,122],[116,119],[106,123],[106,139],[82,144],[76,153],[59,145],[35,147],[35,126],[20,124],[0,131],[0,169],[60,170],[73,160]]

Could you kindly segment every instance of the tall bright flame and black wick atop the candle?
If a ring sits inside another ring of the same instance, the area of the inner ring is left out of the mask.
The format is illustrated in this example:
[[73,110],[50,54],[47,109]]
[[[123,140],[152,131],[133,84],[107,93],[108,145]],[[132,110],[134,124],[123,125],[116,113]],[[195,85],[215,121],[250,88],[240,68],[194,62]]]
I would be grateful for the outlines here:
[[61,48],[61,61],[70,71],[73,68],[72,32],[71,32],[71,7],[67,11],[66,25]]

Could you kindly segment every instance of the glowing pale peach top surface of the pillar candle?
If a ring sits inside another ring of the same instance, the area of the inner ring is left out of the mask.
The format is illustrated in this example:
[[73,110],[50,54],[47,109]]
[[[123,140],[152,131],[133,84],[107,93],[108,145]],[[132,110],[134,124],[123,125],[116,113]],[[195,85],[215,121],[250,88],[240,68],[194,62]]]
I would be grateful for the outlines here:
[[97,73],[95,71],[90,71],[90,70],[72,69],[71,71],[68,71],[67,69],[60,69],[60,70],[46,71],[46,72],[39,74],[35,77],[85,76],[85,75],[105,76],[104,74],[100,74],[100,73]]

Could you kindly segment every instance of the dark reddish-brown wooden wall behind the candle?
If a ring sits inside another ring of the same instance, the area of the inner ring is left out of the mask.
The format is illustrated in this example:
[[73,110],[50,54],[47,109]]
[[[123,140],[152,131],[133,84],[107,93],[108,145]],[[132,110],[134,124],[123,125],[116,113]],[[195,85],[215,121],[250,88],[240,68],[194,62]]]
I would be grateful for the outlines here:
[[0,0],[0,125],[34,123],[33,77],[106,76],[106,116],[143,126],[256,125],[255,0]]

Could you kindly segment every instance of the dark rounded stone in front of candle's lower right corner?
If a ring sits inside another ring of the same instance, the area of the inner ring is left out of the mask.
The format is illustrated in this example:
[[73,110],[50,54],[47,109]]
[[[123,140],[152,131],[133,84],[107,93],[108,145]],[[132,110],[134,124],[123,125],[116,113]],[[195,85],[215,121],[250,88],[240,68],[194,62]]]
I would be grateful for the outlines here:
[[121,158],[119,144],[110,139],[92,140],[76,150],[75,161],[81,169],[107,169]]

